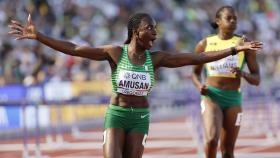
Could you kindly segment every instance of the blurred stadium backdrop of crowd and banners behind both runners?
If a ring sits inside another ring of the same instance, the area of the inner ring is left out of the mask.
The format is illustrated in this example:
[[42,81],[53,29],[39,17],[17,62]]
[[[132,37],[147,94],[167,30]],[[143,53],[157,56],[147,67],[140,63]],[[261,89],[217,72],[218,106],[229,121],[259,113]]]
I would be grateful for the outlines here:
[[[101,128],[111,93],[107,62],[67,56],[30,40],[15,41],[7,35],[11,19],[26,22],[31,13],[37,29],[52,37],[82,45],[122,45],[128,17],[147,12],[158,23],[154,50],[191,52],[214,32],[210,22],[223,5],[236,8],[238,34],[264,43],[258,53],[261,85],[242,84],[245,125],[279,140],[277,0],[0,0],[0,140],[10,144],[24,138],[24,151],[26,141],[36,136],[51,134],[63,141],[64,133]],[[187,66],[157,72],[150,97],[152,122],[191,116],[191,124],[200,125],[199,94],[190,80],[191,70]],[[2,152],[1,157],[13,157],[9,155],[13,151],[7,151],[1,150],[0,156]]]

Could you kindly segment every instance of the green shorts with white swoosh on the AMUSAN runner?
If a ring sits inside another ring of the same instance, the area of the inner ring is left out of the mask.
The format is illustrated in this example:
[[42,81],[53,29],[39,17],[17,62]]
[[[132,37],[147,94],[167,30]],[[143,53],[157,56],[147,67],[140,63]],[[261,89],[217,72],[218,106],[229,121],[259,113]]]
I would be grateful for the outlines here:
[[121,128],[125,132],[148,134],[150,111],[148,108],[127,108],[110,105],[106,111],[104,128]]

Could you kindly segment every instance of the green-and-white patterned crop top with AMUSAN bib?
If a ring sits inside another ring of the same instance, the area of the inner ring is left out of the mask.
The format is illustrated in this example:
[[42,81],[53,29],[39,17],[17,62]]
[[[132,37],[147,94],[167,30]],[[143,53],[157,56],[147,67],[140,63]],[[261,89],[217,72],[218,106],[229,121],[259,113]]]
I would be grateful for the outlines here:
[[112,91],[125,95],[147,96],[155,83],[154,66],[150,51],[146,50],[146,61],[135,65],[129,61],[128,45],[123,46],[121,59],[112,73]]

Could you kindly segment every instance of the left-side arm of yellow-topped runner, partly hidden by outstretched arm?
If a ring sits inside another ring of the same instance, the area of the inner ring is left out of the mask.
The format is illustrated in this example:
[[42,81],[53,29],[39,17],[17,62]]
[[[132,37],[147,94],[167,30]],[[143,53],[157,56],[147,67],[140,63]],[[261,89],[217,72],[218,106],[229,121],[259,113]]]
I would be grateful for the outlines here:
[[[205,51],[206,39],[201,40],[195,47],[195,53],[202,53]],[[203,64],[194,65],[192,71],[192,81],[195,87],[200,91],[201,94],[207,93],[207,87],[201,82],[201,72],[203,69]]]

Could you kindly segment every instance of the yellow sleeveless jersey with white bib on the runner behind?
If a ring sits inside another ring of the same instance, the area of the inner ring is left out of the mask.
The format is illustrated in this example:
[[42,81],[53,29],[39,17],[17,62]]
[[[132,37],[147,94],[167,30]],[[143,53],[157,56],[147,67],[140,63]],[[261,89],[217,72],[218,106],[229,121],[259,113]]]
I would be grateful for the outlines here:
[[[219,51],[236,46],[237,42],[241,39],[240,36],[234,35],[231,39],[222,40],[218,35],[209,36],[206,38],[205,52]],[[206,63],[207,76],[229,77],[235,78],[235,75],[230,72],[233,67],[243,69],[245,63],[244,52],[239,52],[236,55],[231,55],[226,58]]]

